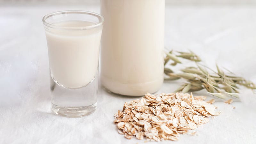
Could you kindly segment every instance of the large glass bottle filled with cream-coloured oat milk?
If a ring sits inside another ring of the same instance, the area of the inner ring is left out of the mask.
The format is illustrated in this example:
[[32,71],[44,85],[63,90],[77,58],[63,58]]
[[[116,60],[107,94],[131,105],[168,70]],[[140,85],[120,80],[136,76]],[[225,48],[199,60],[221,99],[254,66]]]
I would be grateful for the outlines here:
[[101,83],[141,96],[163,83],[165,0],[101,0]]

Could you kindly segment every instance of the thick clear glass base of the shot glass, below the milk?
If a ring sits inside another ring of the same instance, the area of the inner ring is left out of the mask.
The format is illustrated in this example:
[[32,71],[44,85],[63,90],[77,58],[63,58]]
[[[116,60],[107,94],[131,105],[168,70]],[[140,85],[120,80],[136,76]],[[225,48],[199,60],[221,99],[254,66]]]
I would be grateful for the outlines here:
[[[52,76],[52,75],[51,75]],[[83,117],[97,107],[98,74],[83,87],[70,89],[60,85],[53,77],[51,82],[52,111],[65,117]]]

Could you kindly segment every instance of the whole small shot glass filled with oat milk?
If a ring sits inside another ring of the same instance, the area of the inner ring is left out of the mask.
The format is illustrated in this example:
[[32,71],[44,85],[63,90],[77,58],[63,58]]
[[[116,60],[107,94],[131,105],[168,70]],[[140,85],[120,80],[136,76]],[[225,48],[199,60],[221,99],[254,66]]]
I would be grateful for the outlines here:
[[86,11],[44,16],[55,114],[82,117],[95,111],[103,21],[101,15]]

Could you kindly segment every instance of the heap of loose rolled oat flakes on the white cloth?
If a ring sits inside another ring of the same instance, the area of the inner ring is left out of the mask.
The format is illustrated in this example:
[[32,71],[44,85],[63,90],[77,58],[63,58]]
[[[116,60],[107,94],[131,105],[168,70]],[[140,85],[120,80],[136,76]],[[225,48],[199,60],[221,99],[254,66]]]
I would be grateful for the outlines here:
[[220,115],[215,112],[214,101],[205,102],[205,96],[193,96],[184,93],[147,93],[141,100],[132,100],[124,104],[122,111],[115,114],[114,123],[118,133],[125,138],[136,137],[139,140],[179,140],[180,133],[194,130],[205,124],[209,116]]

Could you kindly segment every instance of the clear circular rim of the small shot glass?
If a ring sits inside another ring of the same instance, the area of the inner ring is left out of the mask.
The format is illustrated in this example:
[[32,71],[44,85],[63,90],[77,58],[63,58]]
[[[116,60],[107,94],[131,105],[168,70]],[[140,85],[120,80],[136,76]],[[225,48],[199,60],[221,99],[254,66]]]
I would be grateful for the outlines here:
[[[52,16],[56,16],[56,15],[60,15],[60,14],[68,14],[68,13],[74,13],[74,14],[87,14],[87,15],[92,15],[95,16],[99,19],[98,23],[95,23],[94,25],[91,26],[84,26],[84,27],[63,27],[63,26],[56,26],[53,24],[50,24],[48,22],[46,22],[46,19],[52,17]],[[79,10],[68,10],[68,11],[58,11],[58,12],[52,12],[49,13],[47,15],[45,15],[43,17],[43,24],[44,26],[50,27],[50,28],[58,28],[58,29],[65,29],[65,30],[83,30],[83,29],[92,29],[92,28],[96,28],[100,25],[102,25],[104,22],[104,17],[98,13],[95,12],[89,12],[89,11],[79,11]]]

